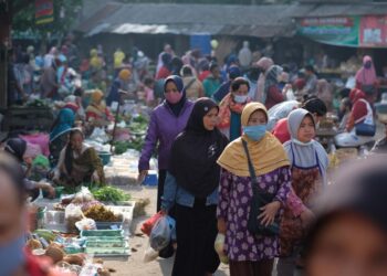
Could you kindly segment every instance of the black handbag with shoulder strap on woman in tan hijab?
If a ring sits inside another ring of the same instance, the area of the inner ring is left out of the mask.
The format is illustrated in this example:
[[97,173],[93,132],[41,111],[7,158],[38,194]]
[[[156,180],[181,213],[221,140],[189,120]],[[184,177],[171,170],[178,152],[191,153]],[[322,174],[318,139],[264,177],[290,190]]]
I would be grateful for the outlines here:
[[275,216],[275,220],[269,226],[261,224],[260,219],[258,216],[261,214],[261,208],[273,202],[274,194],[268,193],[259,188],[259,183],[257,181],[257,174],[254,167],[250,159],[250,153],[248,149],[247,141],[242,140],[243,148],[245,155],[248,157],[249,162],[249,171],[251,177],[251,187],[253,191],[253,197],[250,203],[250,214],[248,220],[248,230],[253,235],[264,235],[264,236],[275,236],[280,234],[280,220]]

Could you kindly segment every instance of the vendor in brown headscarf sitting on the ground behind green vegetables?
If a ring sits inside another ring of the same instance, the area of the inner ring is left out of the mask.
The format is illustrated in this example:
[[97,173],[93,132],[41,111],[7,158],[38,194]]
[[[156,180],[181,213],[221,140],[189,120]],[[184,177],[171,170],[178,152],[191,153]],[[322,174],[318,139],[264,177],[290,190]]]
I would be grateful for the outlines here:
[[72,129],[69,144],[60,155],[53,179],[55,183],[73,188],[82,183],[105,184],[104,169],[97,152],[83,141],[82,130]]

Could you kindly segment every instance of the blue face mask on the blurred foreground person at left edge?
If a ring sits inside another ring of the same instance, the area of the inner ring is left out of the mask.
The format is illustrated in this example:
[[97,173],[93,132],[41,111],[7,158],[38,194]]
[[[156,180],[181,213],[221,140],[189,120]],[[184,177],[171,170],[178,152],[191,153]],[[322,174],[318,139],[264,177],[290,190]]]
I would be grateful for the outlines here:
[[24,236],[0,246],[0,275],[11,275],[24,263]]

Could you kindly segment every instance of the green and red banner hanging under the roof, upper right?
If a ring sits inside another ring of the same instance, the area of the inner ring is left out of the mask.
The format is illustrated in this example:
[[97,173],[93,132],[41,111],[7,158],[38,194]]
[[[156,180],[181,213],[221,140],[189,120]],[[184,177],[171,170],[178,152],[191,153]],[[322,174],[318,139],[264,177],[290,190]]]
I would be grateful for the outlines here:
[[358,46],[358,17],[304,18],[297,33],[314,41],[342,46]]

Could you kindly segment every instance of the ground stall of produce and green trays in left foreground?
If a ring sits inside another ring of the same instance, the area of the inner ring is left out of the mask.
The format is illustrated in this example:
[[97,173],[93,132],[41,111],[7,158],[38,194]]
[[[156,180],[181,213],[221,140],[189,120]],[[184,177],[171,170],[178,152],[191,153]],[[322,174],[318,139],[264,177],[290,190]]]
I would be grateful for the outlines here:
[[113,187],[92,192],[82,188],[55,200],[40,198],[29,208],[32,234],[27,247],[33,255],[50,257],[64,272],[108,275],[104,261],[130,256],[134,208],[129,195]]

